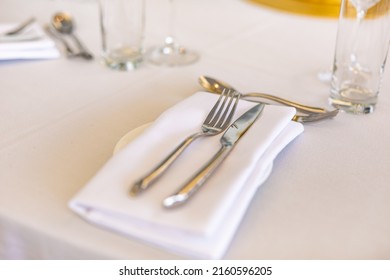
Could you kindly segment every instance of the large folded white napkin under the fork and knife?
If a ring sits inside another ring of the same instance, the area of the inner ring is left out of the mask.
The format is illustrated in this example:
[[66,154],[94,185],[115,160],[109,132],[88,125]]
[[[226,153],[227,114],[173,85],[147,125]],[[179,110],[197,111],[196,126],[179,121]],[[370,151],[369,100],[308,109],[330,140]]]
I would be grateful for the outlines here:
[[[221,258],[278,153],[303,131],[294,108],[267,105],[229,157],[191,200],[164,209],[175,192],[220,148],[220,136],[193,143],[162,178],[138,197],[130,186],[186,136],[199,131],[218,96],[199,92],[165,111],[116,153],[70,201],[88,221],[195,258]],[[255,103],[240,100],[235,118]]]

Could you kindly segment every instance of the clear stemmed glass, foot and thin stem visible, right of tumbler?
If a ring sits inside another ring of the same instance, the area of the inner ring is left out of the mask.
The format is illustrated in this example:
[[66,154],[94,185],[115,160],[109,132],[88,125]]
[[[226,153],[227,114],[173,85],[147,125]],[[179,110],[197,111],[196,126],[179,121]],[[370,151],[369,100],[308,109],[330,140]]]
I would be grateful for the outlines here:
[[169,0],[169,6],[170,33],[165,37],[162,46],[156,47],[149,52],[148,60],[153,64],[165,66],[180,66],[194,63],[198,60],[199,55],[195,51],[189,50],[176,42],[174,36],[174,0]]

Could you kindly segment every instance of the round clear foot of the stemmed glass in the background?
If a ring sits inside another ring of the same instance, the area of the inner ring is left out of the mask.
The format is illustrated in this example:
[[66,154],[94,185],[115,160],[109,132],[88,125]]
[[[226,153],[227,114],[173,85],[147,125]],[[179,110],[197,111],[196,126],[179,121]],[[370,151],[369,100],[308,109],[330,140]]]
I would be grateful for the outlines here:
[[148,61],[155,65],[182,66],[196,62],[199,55],[180,46],[166,45],[152,49]]

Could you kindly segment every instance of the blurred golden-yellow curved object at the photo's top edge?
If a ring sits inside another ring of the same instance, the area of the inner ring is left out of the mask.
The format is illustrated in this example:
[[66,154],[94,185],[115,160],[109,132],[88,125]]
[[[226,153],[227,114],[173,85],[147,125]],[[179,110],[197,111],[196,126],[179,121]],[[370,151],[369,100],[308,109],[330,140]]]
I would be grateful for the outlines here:
[[335,17],[340,13],[341,0],[249,0],[270,8],[311,16]]

